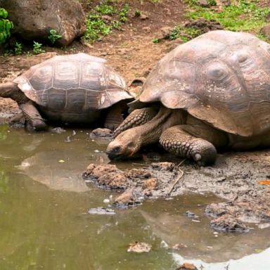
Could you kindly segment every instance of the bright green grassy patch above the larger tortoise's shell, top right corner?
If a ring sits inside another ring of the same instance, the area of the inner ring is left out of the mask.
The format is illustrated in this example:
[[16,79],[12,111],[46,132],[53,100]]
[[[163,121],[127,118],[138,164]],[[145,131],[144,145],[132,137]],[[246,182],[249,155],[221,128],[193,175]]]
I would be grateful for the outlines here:
[[238,4],[223,6],[221,11],[214,8],[203,8],[189,2],[193,11],[186,13],[191,19],[205,18],[217,20],[226,30],[259,32],[265,25],[265,17],[270,7],[259,7],[257,1],[240,0]]

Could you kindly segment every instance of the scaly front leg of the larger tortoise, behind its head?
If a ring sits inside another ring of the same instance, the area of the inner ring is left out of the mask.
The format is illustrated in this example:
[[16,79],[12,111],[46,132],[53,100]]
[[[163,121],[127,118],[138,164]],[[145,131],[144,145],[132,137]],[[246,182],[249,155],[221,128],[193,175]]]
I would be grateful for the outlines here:
[[113,132],[113,136],[116,137],[123,131],[131,129],[131,127],[139,127],[142,124],[150,121],[157,111],[154,108],[137,109],[130,113],[130,115],[120,124]]

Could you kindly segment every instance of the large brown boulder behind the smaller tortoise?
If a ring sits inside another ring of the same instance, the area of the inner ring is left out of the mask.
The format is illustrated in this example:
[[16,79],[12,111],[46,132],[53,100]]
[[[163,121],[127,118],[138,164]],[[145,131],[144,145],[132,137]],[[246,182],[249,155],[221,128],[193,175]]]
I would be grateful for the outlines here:
[[68,46],[86,30],[85,15],[77,0],[0,0],[22,39],[48,42],[49,31],[62,35],[56,44]]

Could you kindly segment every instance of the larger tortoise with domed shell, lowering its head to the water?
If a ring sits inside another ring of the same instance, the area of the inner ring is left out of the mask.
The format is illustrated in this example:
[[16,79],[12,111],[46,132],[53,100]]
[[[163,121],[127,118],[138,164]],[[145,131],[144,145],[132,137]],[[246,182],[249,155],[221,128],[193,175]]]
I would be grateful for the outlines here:
[[142,109],[115,131],[111,159],[158,141],[200,165],[216,160],[216,148],[269,147],[270,44],[243,32],[202,34],[158,62],[132,107]]

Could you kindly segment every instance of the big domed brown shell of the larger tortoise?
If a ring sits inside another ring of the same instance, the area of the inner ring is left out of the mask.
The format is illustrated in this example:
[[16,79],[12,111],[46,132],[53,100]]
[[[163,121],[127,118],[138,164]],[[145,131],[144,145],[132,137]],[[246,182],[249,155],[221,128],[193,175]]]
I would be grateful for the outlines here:
[[241,136],[270,129],[270,44],[252,34],[217,30],[162,58],[139,101],[182,108]]

